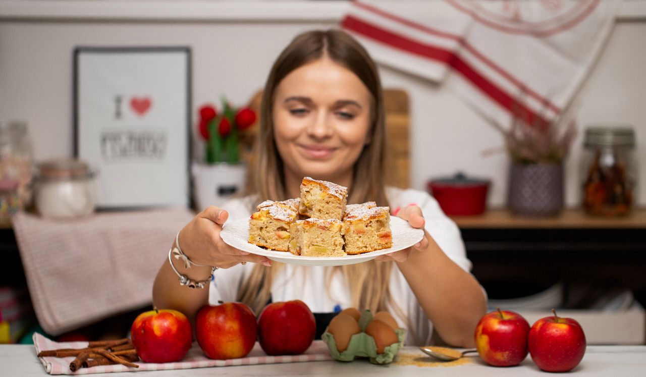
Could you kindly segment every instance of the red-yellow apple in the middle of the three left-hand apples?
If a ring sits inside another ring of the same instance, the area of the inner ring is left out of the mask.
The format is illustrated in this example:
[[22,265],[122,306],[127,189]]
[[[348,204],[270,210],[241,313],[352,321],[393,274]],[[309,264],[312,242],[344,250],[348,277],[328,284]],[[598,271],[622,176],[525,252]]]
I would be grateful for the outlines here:
[[239,302],[205,305],[195,318],[198,344],[216,360],[247,356],[256,343],[257,327],[253,311]]

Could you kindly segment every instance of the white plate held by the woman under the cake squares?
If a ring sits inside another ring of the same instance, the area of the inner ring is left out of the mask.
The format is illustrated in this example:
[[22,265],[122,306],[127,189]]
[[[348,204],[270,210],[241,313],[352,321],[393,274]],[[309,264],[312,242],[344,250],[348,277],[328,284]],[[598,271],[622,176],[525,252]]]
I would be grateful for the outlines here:
[[342,266],[361,263],[377,258],[380,255],[399,251],[411,247],[424,238],[423,229],[415,229],[408,225],[408,221],[392,216],[390,218],[390,230],[393,233],[393,247],[377,251],[366,252],[358,255],[347,256],[297,256],[286,251],[267,250],[247,242],[249,239],[249,220],[238,219],[225,223],[220,232],[222,239],[236,249],[266,256],[270,260],[280,263],[291,263],[295,265],[310,266]]

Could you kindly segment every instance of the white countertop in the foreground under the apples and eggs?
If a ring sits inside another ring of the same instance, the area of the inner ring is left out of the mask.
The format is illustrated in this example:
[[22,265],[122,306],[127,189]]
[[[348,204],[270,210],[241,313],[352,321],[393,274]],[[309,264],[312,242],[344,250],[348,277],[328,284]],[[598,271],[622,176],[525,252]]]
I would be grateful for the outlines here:
[[[405,347],[400,352],[419,352],[415,347]],[[423,354],[419,352],[420,356]],[[413,365],[373,365],[367,360],[344,362],[306,362],[267,365],[242,365],[182,369],[176,371],[142,371],[141,376],[548,376],[540,371],[530,356],[518,367],[497,368],[472,356],[473,363],[455,367],[417,367]],[[217,369],[217,370],[214,370]],[[589,346],[583,361],[573,371],[585,376],[646,376],[646,346]],[[47,376],[45,368],[36,358],[31,345],[0,345],[0,375]],[[139,375],[139,374],[137,374]],[[137,376],[135,375],[135,377]],[[132,372],[110,373],[110,377],[129,376]]]

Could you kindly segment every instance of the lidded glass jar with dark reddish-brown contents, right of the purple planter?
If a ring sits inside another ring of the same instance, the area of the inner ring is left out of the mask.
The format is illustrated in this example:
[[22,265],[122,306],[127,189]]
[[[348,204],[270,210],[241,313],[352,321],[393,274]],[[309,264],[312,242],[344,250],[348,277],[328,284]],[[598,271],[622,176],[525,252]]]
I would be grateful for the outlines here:
[[630,127],[589,127],[581,159],[583,209],[599,216],[630,213],[636,198],[635,133]]

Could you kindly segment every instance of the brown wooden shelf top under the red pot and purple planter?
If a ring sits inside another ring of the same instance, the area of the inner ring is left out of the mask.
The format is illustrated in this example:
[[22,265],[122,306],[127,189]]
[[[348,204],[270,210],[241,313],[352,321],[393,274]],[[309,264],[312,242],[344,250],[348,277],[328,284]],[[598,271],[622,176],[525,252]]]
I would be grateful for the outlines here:
[[553,218],[525,218],[505,209],[487,210],[479,216],[451,216],[460,228],[470,229],[646,229],[646,209],[621,218],[602,218],[579,209],[563,210]]

